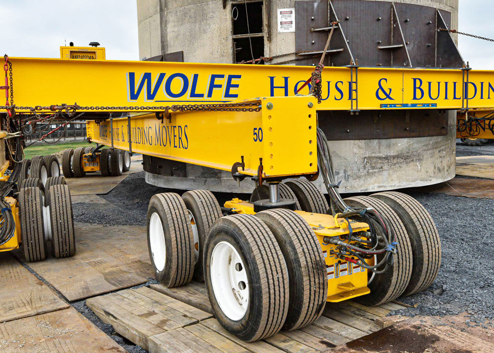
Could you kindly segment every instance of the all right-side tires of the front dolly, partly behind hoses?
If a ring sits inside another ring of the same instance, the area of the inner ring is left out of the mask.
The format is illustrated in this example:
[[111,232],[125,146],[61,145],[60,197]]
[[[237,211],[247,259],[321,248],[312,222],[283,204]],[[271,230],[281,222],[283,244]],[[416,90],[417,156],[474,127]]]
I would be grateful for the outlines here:
[[[280,183],[280,197],[296,200],[297,210],[327,213],[329,205],[324,194],[306,179]],[[250,201],[266,198],[267,187],[256,188]],[[346,198],[348,206],[374,208],[386,217],[396,232],[398,245],[390,268],[381,274],[369,273],[371,293],[355,298],[367,306],[388,303],[400,296],[409,296],[428,288],[441,266],[441,240],[427,210],[414,198],[400,192],[379,192],[370,196]],[[382,258],[376,257],[375,262]]]

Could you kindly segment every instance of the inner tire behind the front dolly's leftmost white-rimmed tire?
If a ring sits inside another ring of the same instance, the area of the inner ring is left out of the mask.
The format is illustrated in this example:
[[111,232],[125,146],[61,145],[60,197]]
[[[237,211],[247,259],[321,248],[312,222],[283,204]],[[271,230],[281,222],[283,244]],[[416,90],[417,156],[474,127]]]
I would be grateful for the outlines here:
[[188,219],[194,235],[194,279],[204,282],[204,241],[214,221],[222,216],[221,208],[216,197],[208,190],[187,191],[182,195],[182,199],[187,208]]

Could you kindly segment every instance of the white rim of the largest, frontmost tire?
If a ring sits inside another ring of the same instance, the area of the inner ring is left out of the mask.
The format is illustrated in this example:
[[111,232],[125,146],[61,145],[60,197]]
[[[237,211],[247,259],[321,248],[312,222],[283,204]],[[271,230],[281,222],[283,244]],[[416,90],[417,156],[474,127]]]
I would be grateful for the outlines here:
[[216,244],[211,253],[210,278],[214,298],[223,313],[238,321],[249,302],[247,271],[237,250],[228,242]]

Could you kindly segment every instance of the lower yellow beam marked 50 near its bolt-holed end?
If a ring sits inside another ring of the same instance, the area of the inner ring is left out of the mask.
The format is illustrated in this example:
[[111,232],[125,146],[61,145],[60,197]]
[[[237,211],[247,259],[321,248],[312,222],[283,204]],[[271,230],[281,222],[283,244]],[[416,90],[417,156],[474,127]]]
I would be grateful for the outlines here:
[[88,121],[87,137],[107,146],[224,171],[231,171],[244,156],[245,170],[239,172],[250,176],[257,175],[260,158],[263,177],[317,173],[315,98],[253,101],[260,111],[176,112],[163,122],[149,113]]

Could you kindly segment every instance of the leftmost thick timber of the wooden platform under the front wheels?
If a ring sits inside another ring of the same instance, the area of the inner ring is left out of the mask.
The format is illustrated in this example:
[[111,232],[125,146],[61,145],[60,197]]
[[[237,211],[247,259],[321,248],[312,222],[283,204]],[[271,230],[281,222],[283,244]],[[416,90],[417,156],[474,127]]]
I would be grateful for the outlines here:
[[101,321],[112,325],[114,330],[127,340],[148,350],[149,337],[165,332],[164,329],[131,313],[126,308],[116,305],[105,297],[89,298],[86,300],[86,305],[94,311]]

